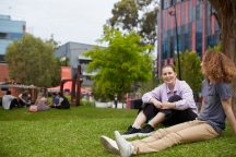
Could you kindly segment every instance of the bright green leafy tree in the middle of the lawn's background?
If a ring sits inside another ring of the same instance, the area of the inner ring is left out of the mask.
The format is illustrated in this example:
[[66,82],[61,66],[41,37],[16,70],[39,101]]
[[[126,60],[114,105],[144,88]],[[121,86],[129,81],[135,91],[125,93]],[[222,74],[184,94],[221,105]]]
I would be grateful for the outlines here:
[[84,53],[91,57],[87,72],[98,70],[94,76],[99,87],[114,85],[116,93],[123,95],[130,90],[132,83],[146,82],[151,78],[153,46],[140,46],[141,37],[135,32],[122,34],[114,27],[104,27],[104,36],[98,43],[108,44],[107,48],[94,47]]

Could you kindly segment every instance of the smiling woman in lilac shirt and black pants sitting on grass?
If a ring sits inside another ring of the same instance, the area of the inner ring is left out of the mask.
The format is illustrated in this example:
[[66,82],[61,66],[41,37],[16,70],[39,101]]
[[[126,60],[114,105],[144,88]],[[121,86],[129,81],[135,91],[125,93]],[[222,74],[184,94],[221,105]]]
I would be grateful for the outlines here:
[[[158,123],[175,125],[197,118],[192,89],[185,81],[177,78],[173,64],[163,67],[162,77],[162,85],[142,96],[143,106],[133,124],[122,134],[125,138],[150,135]],[[145,122],[148,124],[141,129]]]

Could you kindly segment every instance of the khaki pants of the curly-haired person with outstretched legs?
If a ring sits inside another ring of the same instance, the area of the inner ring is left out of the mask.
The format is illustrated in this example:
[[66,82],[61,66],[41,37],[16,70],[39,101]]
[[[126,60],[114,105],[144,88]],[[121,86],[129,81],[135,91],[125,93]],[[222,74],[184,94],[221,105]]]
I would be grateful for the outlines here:
[[220,134],[206,122],[194,120],[167,129],[160,129],[151,136],[131,142],[134,155],[154,153],[177,144],[210,140]]

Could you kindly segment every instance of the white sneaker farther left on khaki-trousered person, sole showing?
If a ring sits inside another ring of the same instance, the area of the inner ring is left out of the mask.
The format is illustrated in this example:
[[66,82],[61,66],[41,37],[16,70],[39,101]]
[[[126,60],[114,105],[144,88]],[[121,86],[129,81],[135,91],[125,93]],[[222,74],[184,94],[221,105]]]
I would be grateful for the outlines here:
[[104,148],[106,150],[108,150],[109,153],[116,154],[116,155],[120,155],[119,148],[117,146],[117,143],[114,140],[111,140],[111,138],[109,138],[107,136],[102,135],[101,136],[101,143],[104,146]]

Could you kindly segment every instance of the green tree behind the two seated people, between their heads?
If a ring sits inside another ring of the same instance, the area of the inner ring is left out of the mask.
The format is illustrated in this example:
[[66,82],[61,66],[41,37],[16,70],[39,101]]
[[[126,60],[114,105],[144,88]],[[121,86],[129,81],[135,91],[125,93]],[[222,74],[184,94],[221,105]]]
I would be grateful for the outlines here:
[[[201,84],[203,75],[201,73],[201,59],[196,51],[186,50],[184,53],[179,53],[181,78],[186,81],[193,93],[201,92]],[[175,59],[175,69],[178,72],[178,60]]]

